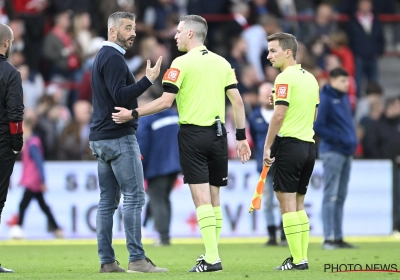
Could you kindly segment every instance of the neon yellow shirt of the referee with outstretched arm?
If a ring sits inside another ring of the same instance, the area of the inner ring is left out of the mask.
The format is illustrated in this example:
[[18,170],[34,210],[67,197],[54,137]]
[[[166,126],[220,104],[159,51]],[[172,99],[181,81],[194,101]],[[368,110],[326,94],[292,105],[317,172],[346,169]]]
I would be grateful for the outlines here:
[[179,124],[211,126],[216,116],[225,123],[225,91],[237,80],[228,61],[200,46],[174,59],[162,83],[177,93]]

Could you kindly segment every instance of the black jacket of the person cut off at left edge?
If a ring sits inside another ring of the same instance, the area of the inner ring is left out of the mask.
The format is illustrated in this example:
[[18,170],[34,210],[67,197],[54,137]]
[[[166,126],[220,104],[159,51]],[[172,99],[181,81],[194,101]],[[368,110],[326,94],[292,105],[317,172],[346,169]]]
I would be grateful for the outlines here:
[[11,134],[10,122],[20,122],[24,117],[21,75],[4,55],[0,55],[0,155],[7,149],[21,151],[22,133]]

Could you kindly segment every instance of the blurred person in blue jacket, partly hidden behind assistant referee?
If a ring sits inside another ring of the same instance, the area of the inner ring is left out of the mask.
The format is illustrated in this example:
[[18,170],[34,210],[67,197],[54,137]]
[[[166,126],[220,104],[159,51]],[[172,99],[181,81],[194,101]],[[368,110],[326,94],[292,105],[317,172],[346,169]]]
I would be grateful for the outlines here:
[[[270,105],[269,96],[272,94],[273,85],[271,83],[263,83],[258,88],[258,101],[260,106],[255,108],[250,115],[249,125],[251,138],[255,146],[255,154],[257,160],[257,172],[261,173],[263,168],[264,142],[267,137],[269,123],[274,114],[274,107]],[[274,217],[274,188],[272,186],[272,169],[268,172],[264,188],[264,209],[265,220],[267,223],[267,232],[269,240],[265,245],[278,245],[276,241],[277,224]],[[283,231],[282,223],[281,245],[287,246],[285,232]]]

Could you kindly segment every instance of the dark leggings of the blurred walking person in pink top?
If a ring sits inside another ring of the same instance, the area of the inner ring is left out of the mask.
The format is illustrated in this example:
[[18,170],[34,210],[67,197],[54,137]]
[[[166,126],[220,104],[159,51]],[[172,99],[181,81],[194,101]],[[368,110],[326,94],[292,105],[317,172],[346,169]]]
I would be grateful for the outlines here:
[[29,203],[31,202],[32,198],[35,198],[39,203],[40,209],[42,209],[43,213],[46,214],[48,220],[48,229],[49,231],[54,231],[58,229],[58,225],[56,220],[54,219],[53,214],[50,211],[49,206],[44,201],[43,193],[42,192],[32,192],[31,190],[25,189],[24,196],[19,204],[19,219],[18,225],[22,226],[24,223],[25,211],[28,208]]

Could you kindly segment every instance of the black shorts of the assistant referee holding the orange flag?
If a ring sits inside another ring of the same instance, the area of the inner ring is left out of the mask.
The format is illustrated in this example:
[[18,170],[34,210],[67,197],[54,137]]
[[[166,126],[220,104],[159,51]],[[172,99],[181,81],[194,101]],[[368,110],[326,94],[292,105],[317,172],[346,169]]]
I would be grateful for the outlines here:
[[271,149],[274,191],[306,194],[315,164],[315,144],[292,137],[276,137]]

